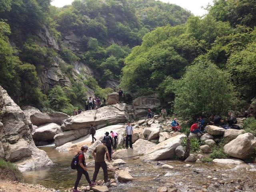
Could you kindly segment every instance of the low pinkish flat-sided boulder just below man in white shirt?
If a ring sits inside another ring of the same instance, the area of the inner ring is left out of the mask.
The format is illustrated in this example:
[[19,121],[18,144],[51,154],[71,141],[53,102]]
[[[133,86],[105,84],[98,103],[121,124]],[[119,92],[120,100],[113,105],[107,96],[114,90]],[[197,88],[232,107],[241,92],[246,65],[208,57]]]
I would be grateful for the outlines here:
[[145,153],[149,148],[156,146],[155,143],[152,143],[147,140],[139,139],[134,144],[132,144],[133,149],[120,149],[116,150],[113,154],[113,158],[128,158],[140,156]]

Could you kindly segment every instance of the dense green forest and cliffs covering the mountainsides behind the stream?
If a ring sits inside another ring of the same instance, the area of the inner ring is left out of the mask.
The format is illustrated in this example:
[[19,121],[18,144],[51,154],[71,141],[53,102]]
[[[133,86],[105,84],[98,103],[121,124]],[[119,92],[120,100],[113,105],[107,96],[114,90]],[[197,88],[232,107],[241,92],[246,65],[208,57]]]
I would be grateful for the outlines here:
[[256,0],[193,16],[155,0],[0,0],[0,85],[20,105],[70,113],[119,82],[180,116],[242,110],[256,96]]

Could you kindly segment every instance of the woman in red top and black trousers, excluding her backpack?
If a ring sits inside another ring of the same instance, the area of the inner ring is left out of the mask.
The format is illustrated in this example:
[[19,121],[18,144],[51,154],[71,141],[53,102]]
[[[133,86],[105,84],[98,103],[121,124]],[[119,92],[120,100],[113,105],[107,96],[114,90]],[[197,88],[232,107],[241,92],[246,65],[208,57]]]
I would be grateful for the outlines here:
[[74,189],[73,189],[73,192],[79,192],[77,190],[77,186],[82,178],[82,175],[84,174],[87,182],[89,183],[89,186],[94,186],[96,185],[95,183],[93,183],[91,180],[90,180],[90,177],[89,177],[89,174],[87,172],[87,168],[86,168],[86,162],[85,162],[85,157],[84,157],[84,153],[86,153],[88,150],[88,146],[82,146],[81,147],[81,151],[78,152],[78,164],[77,164],[77,167],[76,167],[76,170],[77,170],[77,176],[76,176],[76,182],[75,182],[75,186],[74,186]]

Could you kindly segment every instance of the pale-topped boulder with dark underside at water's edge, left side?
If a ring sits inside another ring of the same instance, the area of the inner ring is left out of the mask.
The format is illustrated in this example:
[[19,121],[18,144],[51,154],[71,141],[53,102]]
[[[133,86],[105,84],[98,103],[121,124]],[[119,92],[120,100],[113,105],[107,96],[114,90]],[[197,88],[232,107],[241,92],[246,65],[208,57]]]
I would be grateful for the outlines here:
[[56,134],[62,133],[60,125],[56,123],[49,123],[39,126],[32,132],[32,137],[37,141],[53,140]]

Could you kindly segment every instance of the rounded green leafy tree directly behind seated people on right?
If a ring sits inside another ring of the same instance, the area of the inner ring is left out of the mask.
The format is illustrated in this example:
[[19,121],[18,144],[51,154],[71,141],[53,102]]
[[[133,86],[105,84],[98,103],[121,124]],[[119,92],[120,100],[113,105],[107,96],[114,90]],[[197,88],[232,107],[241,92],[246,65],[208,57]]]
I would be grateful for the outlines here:
[[175,92],[176,113],[186,118],[199,114],[224,114],[234,102],[229,74],[208,60],[198,59],[187,68]]

